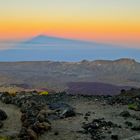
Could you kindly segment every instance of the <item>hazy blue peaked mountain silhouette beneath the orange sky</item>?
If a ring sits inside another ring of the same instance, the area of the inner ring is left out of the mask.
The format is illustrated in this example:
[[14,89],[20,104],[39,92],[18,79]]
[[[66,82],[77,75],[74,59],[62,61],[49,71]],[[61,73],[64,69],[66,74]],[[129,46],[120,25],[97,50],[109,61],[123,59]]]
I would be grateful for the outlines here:
[[119,58],[140,61],[139,54],[140,49],[136,48],[39,35],[20,42],[11,49],[0,50],[0,61],[81,61]]

